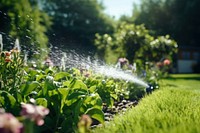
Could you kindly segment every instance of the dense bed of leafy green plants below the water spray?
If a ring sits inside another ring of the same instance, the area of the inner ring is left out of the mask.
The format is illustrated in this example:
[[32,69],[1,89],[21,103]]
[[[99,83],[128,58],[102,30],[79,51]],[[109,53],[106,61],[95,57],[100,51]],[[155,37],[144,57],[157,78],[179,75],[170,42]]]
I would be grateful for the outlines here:
[[144,87],[86,70],[26,66],[17,49],[1,52],[0,71],[0,108],[19,116],[21,103],[34,99],[49,109],[45,125],[35,128],[38,132],[73,132],[84,114],[104,123],[103,106],[145,94]]

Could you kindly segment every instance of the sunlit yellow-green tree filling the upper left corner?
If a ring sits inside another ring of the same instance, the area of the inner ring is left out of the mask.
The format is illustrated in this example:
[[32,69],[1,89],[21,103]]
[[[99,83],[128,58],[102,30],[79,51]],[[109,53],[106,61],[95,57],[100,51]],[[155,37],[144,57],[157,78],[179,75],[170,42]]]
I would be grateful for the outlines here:
[[0,29],[12,38],[20,40],[21,47],[30,52],[40,52],[40,57],[47,54],[48,38],[45,35],[50,26],[50,18],[39,9],[37,1],[0,0]]

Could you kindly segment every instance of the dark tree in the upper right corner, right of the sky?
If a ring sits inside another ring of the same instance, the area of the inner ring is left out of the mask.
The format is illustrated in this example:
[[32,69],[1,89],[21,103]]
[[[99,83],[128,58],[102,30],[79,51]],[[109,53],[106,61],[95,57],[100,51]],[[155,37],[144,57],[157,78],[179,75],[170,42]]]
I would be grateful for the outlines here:
[[142,0],[132,19],[156,35],[170,34],[179,45],[199,46],[199,6],[199,0]]

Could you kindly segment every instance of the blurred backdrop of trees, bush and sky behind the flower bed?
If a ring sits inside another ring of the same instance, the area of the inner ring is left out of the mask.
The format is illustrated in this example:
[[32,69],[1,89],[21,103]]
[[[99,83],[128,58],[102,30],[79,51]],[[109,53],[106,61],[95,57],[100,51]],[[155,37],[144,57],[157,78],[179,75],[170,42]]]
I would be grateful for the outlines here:
[[170,72],[199,73],[199,7],[199,0],[0,0],[0,34],[4,49],[18,38],[29,58],[74,49],[111,64],[168,58]]

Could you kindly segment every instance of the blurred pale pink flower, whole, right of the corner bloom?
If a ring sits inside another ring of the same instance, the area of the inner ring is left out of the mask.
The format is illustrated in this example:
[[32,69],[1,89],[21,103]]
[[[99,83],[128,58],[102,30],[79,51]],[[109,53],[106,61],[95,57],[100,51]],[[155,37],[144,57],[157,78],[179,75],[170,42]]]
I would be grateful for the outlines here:
[[49,113],[49,109],[43,106],[35,106],[33,104],[22,104],[21,115],[27,119],[34,121],[38,126],[44,124],[43,118]]

